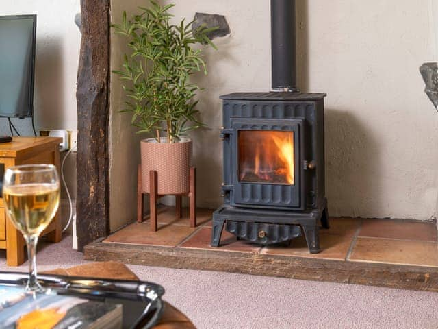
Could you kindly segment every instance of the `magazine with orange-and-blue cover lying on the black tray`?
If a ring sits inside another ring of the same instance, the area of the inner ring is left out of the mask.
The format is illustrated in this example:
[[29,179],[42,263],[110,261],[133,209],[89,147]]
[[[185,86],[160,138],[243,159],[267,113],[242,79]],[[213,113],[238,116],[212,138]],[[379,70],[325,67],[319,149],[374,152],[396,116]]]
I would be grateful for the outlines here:
[[122,305],[0,284],[1,329],[119,329]]

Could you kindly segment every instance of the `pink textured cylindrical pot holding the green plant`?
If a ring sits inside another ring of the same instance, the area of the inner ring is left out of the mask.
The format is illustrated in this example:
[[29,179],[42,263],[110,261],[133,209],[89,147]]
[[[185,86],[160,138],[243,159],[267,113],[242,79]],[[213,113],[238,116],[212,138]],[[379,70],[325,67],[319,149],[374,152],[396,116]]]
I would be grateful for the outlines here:
[[149,193],[149,171],[157,171],[158,194],[188,193],[190,188],[190,163],[192,141],[181,138],[178,143],[167,143],[167,138],[143,139],[140,143],[142,156],[142,190]]

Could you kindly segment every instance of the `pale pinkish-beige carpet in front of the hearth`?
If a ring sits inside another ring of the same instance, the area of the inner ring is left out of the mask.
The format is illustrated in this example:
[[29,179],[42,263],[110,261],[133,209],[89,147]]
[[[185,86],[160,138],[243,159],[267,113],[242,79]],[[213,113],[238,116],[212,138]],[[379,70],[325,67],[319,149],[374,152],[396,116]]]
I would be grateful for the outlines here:
[[[85,263],[71,238],[42,243],[38,269]],[[0,268],[26,271],[26,265]],[[438,328],[438,293],[131,265],[162,284],[165,299],[210,328]]]

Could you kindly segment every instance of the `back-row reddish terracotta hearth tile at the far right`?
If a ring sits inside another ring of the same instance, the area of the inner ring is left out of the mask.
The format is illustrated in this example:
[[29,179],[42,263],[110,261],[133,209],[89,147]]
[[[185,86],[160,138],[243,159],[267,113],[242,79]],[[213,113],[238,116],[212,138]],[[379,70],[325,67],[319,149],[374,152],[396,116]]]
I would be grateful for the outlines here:
[[363,219],[359,236],[414,241],[437,241],[434,223],[393,219]]

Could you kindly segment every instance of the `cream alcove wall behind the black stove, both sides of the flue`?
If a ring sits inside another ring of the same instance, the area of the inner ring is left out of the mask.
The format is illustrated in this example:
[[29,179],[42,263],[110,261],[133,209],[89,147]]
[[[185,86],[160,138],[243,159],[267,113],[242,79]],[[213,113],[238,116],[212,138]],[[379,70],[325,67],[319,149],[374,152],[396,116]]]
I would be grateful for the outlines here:
[[[118,8],[125,8],[125,1],[118,1]],[[270,89],[269,1],[161,2],[177,4],[173,12],[178,21],[192,19],[195,12],[223,14],[231,28],[230,36],[214,40],[218,51],[205,53],[209,75],[196,76],[206,88],[199,110],[209,125],[192,134],[198,206],[216,208],[222,202],[218,97]],[[133,1],[129,3],[132,8]],[[299,87],[328,93],[326,194],[331,215],[437,215],[438,115],[418,73],[422,62],[437,60],[437,23],[438,8],[431,0],[297,1]],[[119,90],[113,79],[112,93]],[[135,208],[134,202],[129,204]]]

